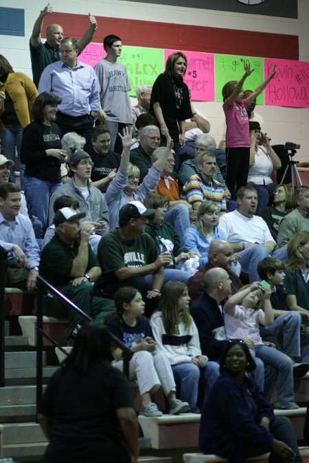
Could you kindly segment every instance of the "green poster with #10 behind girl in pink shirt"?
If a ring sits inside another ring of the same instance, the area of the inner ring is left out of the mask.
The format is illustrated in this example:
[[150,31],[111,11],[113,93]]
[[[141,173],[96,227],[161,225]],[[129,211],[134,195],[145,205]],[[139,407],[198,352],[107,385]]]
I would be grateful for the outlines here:
[[[215,55],[216,102],[223,102],[222,87],[229,80],[240,80],[244,67],[250,64],[254,72],[244,81],[244,90],[255,90],[264,81],[263,58],[237,55]],[[258,104],[264,104],[264,93],[258,97]]]

